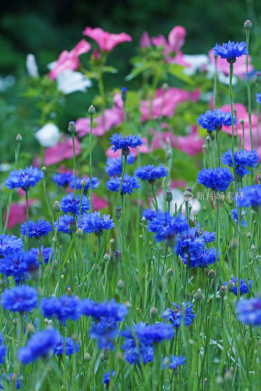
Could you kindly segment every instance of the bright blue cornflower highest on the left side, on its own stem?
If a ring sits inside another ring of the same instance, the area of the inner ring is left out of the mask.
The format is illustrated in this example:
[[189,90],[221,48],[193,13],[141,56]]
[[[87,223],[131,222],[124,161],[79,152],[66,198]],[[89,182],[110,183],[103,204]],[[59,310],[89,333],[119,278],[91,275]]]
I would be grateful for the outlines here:
[[20,168],[19,170],[10,171],[8,178],[5,179],[5,186],[7,189],[19,189],[21,187],[24,191],[27,191],[30,187],[35,187],[43,177],[44,173],[39,168],[26,166],[25,170]]

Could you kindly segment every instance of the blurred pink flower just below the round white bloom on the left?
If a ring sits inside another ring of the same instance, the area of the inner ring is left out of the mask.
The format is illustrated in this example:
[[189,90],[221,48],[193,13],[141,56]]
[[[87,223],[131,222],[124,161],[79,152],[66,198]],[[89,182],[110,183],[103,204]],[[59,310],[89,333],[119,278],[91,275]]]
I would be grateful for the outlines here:
[[[54,147],[47,148],[45,150],[44,164],[50,166],[52,164],[59,163],[65,159],[73,158],[72,139],[62,136],[63,141],[58,142]],[[77,137],[74,137],[75,155],[81,153],[80,142]]]

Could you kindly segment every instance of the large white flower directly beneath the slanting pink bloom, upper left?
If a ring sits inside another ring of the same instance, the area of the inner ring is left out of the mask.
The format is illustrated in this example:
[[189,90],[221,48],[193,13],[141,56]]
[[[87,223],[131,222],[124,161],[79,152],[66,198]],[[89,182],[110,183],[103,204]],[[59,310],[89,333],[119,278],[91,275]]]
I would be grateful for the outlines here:
[[71,92],[82,91],[86,92],[87,87],[92,87],[92,82],[87,79],[83,73],[74,72],[71,69],[66,69],[56,78],[57,89],[64,94]]

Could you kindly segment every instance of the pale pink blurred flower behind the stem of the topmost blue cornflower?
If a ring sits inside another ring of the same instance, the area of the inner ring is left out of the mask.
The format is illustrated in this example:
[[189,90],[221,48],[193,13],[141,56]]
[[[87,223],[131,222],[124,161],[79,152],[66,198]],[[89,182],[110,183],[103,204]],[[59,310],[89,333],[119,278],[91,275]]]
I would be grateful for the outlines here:
[[[209,51],[210,62],[214,65],[215,59],[213,50]],[[226,76],[229,76],[229,64],[226,59],[222,59],[219,56],[216,61],[216,68],[218,71],[223,72]],[[251,57],[248,56],[248,72],[252,72],[254,70],[254,66],[251,64]],[[245,78],[246,74],[246,55],[237,58],[236,63],[233,65],[233,74],[238,76],[240,79]]]

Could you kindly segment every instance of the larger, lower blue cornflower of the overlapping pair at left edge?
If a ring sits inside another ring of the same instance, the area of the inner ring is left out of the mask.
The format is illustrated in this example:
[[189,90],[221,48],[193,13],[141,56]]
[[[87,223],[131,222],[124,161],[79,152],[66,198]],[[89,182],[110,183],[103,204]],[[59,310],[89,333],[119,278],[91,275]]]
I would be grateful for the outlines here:
[[5,255],[0,259],[0,273],[5,276],[14,276],[15,279],[22,279],[28,272],[26,254],[23,251],[15,255]]

